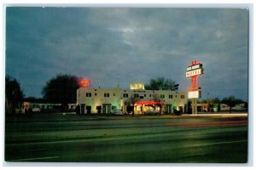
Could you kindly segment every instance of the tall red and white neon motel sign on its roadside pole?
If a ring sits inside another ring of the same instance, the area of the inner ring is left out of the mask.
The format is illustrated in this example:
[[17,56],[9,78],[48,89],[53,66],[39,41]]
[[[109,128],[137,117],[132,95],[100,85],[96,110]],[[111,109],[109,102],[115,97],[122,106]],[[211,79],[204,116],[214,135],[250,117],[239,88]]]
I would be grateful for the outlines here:
[[197,86],[197,77],[203,74],[204,69],[202,68],[201,62],[196,60],[192,61],[187,66],[186,77],[191,78],[191,87],[188,88],[189,99],[192,99],[192,114],[197,114],[197,99],[201,98],[201,87]]

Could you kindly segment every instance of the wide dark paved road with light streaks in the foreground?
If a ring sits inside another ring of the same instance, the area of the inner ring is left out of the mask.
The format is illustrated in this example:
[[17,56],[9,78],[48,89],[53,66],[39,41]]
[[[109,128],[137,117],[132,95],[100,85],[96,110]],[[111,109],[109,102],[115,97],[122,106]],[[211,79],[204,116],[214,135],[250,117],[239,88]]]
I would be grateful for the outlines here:
[[6,161],[247,162],[246,116],[7,117]]

